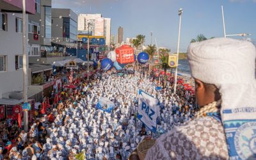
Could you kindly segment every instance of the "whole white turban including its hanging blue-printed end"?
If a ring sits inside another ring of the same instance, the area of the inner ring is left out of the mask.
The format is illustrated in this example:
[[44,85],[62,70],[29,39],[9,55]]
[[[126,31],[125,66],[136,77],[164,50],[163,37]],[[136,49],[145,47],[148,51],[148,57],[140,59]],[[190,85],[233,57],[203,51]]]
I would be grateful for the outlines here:
[[[256,136],[255,58],[251,42],[230,38],[195,42],[188,47],[192,76],[215,84],[220,91],[221,120],[229,136],[228,148],[232,148],[230,159],[249,159],[254,154],[249,140]],[[242,144],[249,147],[241,150]]]

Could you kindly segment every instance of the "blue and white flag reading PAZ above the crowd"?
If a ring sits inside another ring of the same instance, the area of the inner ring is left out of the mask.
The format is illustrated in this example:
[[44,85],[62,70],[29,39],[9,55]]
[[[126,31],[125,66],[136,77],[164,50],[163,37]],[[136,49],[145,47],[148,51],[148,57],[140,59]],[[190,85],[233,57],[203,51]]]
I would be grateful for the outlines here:
[[160,111],[160,102],[143,90],[139,90],[138,119],[152,132],[157,129],[157,116]]

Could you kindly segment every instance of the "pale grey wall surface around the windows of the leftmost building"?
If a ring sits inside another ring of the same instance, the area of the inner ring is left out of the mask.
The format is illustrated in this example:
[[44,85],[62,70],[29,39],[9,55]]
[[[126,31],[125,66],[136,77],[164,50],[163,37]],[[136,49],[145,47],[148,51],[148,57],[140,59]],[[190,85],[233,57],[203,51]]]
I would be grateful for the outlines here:
[[[7,13],[7,17],[8,31],[0,31],[0,55],[7,56],[7,71],[0,72],[0,98],[3,93],[22,90],[22,69],[15,69],[15,56],[22,55],[22,33],[16,33],[15,19],[22,15]],[[26,36],[28,39],[28,34]]]

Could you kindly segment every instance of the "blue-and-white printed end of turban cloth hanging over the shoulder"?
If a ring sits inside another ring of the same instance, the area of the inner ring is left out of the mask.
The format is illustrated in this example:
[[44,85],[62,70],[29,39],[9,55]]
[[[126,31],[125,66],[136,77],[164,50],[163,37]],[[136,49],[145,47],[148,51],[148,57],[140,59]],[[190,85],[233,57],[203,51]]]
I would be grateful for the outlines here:
[[255,115],[256,108],[253,107],[223,110],[223,125],[230,159],[256,159]]

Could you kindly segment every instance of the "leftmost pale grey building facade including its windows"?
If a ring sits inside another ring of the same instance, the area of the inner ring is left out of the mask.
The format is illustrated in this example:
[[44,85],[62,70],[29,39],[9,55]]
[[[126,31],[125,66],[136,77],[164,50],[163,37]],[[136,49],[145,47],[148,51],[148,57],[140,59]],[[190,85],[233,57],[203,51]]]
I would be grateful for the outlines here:
[[[22,91],[22,14],[0,10],[0,99]],[[28,19],[28,15],[26,15]],[[28,22],[26,22],[28,24]],[[26,31],[28,33],[28,29]],[[26,34],[28,39],[28,34]],[[28,46],[28,41],[26,42]],[[27,60],[28,61],[28,60]]]

